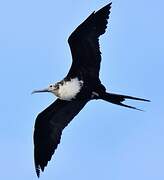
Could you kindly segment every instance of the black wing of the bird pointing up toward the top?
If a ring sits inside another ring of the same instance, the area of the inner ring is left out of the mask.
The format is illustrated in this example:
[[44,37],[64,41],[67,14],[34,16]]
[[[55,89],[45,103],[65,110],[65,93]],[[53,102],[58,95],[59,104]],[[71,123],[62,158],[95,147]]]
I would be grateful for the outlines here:
[[99,36],[105,33],[111,4],[93,12],[70,35],[68,43],[72,53],[72,66],[67,77],[76,76],[79,70],[85,70],[87,77],[99,78],[101,52]]

